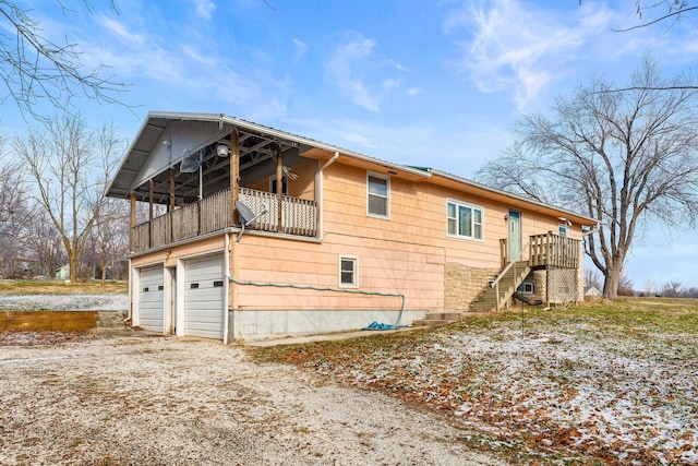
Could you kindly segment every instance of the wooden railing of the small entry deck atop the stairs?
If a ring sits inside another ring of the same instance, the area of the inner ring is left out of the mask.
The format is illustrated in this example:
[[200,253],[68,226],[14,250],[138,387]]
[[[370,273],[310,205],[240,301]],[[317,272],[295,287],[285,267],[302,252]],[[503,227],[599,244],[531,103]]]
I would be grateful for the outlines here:
[[[522,251],[521,260],[528,261],[531,267],[556,266],[578,268],[580,263],[578,239],[571,239],[552,232],[529,237],[528,256]],[[509,263],[508,240],[500,240],[502,267]]]

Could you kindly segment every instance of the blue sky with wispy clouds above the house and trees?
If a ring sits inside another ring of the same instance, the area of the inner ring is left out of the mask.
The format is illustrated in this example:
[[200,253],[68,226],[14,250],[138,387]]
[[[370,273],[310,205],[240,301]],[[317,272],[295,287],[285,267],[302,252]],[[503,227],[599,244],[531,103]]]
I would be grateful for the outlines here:
[[[635,0],[17,1],[86,68],[130,83],[132,109],[79,103],[131,140],[149,110],[221,112],[466,178],[510,143],[520,112],[546,111],[592,73],[626,84],[652,52],[673,75],[698,53],[693,17],[628,33]],[[648,2],[649,3],[649,2]],[[648,13],[649,14],[649,13]],[[649,17],[646,15],[646,17]],[[3,132],[26,123],[2,103]],[[698,286],[690,231],[651,228],[628,258],[648,279]]]

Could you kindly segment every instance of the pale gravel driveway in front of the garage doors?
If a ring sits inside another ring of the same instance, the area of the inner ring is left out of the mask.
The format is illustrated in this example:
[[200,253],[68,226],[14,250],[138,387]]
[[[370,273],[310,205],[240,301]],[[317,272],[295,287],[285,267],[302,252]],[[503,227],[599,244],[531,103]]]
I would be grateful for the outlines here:
[[219,343],[0,346],[0,464],[498,465],[468,432]]

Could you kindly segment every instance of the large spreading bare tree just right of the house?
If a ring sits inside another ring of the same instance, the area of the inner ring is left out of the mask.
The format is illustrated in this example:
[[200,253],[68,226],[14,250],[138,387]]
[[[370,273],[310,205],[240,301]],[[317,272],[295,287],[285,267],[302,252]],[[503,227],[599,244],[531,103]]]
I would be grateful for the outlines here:
[[478,172],[486,183],[598,218],[585,252],[611,299],[638,231],[649,222],[691,225],[698,215],[698,91],[652,89],[666,81],[651,57],[631,83],[631,91],[607,93],[611,85],[595,77],[558,97],[553,119],[524,116],[514,146]]

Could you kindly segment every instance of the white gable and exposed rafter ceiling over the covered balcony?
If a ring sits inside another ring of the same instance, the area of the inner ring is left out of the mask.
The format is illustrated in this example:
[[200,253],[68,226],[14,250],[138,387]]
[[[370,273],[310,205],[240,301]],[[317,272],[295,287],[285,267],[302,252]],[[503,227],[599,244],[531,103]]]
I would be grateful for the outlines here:
[[[190,121],[149,116],[106,195],[129,198],[133,193],[137,201],[149,201],[152,192],[152,201],[165,205],[173,188],[174,202],[181,205],[221,191],[230,187],[233,133],[238,134],[242,186],[273,172],[279,148],[288,167],[298,164],[300,154],[311,148],[224,119]],[[182,171],[188,157],[200,168]]]

